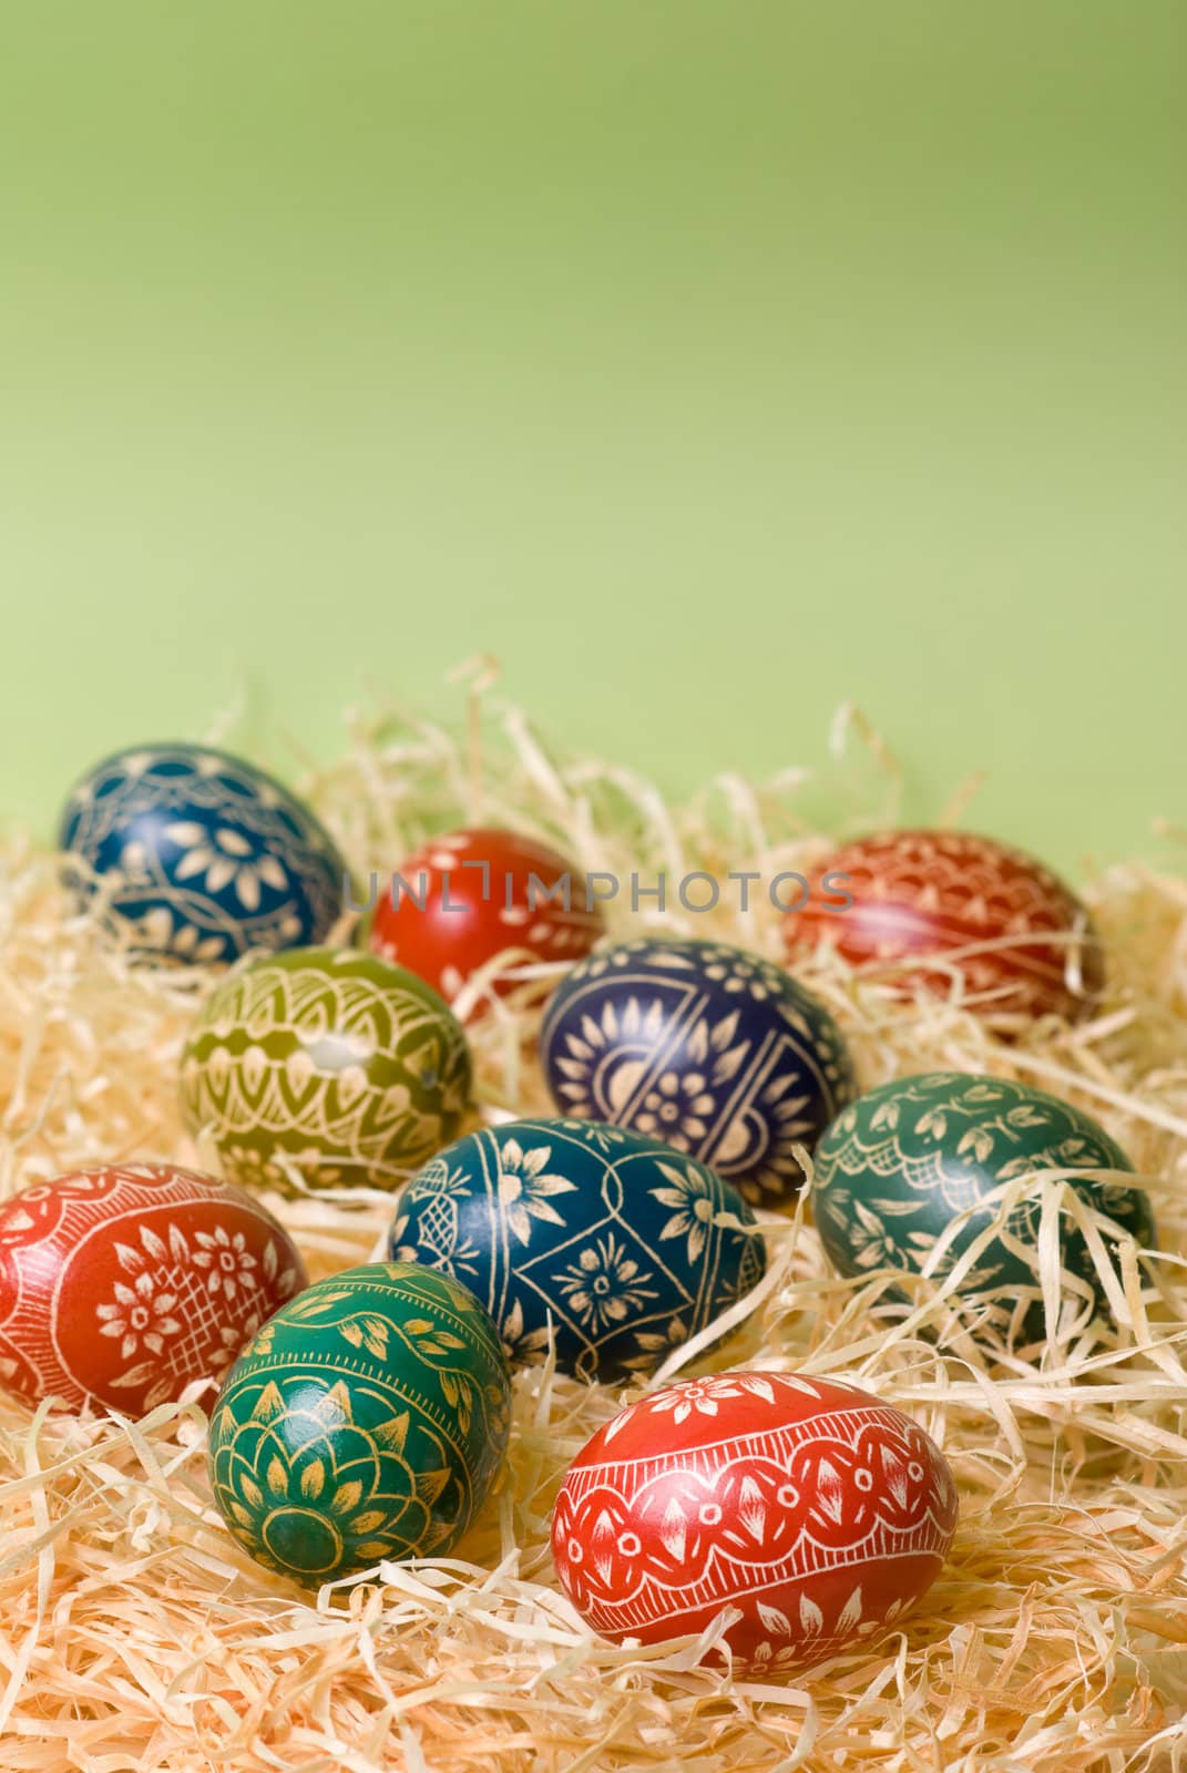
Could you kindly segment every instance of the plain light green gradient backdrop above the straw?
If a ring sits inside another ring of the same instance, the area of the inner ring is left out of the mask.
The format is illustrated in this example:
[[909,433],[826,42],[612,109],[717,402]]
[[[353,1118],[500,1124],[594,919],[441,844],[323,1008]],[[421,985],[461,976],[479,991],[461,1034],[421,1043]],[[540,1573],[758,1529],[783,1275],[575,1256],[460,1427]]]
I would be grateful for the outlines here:
[[1180,4],[9,7],[0,808],[243,693],[1187,824]]

